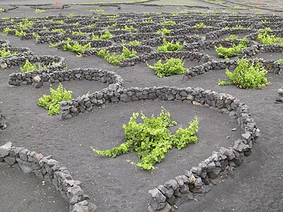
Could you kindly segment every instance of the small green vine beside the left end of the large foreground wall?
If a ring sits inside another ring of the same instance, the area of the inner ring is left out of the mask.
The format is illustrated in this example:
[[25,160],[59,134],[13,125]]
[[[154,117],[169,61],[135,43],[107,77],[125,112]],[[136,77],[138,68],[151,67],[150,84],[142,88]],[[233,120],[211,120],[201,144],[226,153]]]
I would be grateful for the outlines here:
[[37,102],[37,105],[49,110],[49,115],[59,114],[60,102],[71,100],[71,90],[66,90],[60,83],[56,90],[50,88],[50,95],[43,95]]

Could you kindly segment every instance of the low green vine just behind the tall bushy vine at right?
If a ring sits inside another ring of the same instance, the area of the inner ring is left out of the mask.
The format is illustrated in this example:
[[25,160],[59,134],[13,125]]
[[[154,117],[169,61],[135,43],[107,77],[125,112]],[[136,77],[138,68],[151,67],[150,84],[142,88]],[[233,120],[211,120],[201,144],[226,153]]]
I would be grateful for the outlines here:
[[248,48],[246,38],[243,38],[238,45],[233,44],[232,47],[226,48],[220,45],[219,47],[214,47],[219,57],[224,57],[225,59],[229,59],[229,57],[233,57],[239,54],[239,52],[243,49]]

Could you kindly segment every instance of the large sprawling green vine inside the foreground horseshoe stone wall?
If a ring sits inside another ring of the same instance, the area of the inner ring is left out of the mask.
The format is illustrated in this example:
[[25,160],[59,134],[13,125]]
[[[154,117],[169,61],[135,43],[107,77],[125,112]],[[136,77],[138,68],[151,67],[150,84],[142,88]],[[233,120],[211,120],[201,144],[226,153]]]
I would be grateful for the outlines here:
[[[137,123],[137,119],[141,119]],[[158,117],[153,115],[148,118],[142,112],[132,114],[129,123],[122,127],[125,130],[126,142],[112,149],[99,151],[93,148],[98,155],[115,158],[117,155],[131,153],[136,151],[141,159],[139,163],[131,163],[142,167],[144,170],[155,169],[156,163],[161,163],[165,153],[171,148],[182,149],[189,143],[197,143],[197,118],[189,123],[186,129],[179,128],[175,134],[171,134],[168,127],[176,125],[177,122],[171,121],[170,112],[162,109]]]

